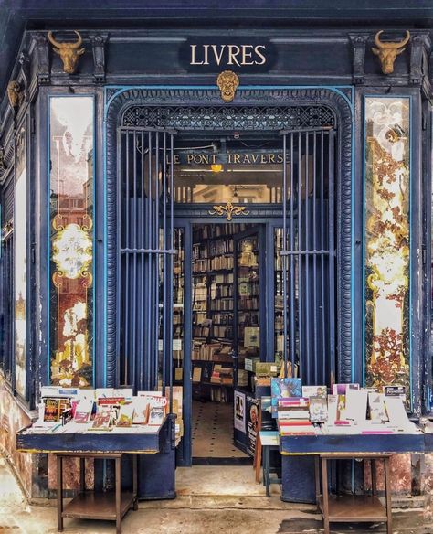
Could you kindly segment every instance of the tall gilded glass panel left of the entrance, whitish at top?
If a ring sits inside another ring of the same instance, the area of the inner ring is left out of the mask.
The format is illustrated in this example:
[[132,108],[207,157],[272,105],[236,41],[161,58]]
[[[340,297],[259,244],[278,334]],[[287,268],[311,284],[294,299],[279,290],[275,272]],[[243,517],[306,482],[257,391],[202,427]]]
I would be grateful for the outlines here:
[[92,97],[50,99],[50,381],[93,383]]

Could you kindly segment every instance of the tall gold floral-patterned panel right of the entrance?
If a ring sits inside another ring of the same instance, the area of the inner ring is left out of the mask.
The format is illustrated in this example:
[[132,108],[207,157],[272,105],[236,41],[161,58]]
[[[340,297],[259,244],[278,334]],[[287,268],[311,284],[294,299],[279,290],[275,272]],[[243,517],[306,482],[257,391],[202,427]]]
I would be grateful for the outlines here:
[[366,98],[365,382],[409,385],[409,101]]

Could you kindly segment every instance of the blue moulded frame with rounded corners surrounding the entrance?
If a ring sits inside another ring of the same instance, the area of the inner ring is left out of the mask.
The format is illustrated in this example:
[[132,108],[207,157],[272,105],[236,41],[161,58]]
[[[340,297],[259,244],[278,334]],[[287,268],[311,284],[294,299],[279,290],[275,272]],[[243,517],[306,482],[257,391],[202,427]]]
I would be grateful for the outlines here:
[[[117,127],[126,108],[136,105],[151,106],[221,106],[217,90],[130,89],[107,91],[110,101],[106,114],[106,194],[107,194],[107,386],[116,385],[117,355]],[[338,147],[336,182],[338,191],[336,212],[338,224],[337,256],[337,379],[352,379],[352,110],[347,98],[329,89],[239,89],[231,105],[269,107],[293,105],[326,105],[337,117]],[[266,117],[264,117],[266,122]]]

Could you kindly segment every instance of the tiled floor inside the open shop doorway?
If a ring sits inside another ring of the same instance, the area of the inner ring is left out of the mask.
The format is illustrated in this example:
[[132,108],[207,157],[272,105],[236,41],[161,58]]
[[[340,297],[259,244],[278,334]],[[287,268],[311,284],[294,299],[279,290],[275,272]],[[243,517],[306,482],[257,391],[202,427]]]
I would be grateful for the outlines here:
[[233,405],[193,401],[193,457],[248,458],[233,443]]

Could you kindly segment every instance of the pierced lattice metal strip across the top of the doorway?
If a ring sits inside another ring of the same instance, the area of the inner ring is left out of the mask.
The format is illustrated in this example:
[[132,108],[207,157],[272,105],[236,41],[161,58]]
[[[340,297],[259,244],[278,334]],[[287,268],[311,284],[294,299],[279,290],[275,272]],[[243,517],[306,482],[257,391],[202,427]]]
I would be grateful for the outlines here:
[[326,106],[132,106],[122,117],[123,126],[175,128],[176,130],[284,130],[335,127],[336,118]]

